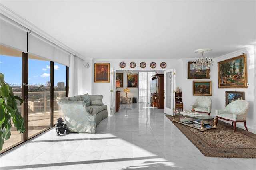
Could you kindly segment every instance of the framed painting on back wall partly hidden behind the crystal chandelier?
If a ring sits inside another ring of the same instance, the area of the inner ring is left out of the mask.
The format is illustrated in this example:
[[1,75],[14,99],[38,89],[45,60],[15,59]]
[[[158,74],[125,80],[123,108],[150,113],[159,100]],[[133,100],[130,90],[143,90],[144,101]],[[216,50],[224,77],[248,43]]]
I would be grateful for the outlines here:
[[197,70],[188,62],[188,79],[210,79],[210,69]]

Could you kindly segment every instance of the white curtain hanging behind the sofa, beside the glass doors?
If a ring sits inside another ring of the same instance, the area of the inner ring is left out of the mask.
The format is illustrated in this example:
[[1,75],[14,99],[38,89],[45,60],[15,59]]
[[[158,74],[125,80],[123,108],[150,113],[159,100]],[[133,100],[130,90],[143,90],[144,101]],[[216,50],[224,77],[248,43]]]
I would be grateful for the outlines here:
[[70,75],[68,96],[82,95],[84,60],[70,55]]

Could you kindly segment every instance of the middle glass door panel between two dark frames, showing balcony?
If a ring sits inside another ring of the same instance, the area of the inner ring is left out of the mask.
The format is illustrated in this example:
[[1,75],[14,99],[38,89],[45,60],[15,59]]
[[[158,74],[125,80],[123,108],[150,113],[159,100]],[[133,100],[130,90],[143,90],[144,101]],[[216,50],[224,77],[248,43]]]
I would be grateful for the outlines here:
[[28,139],[50,128],[50,61],[28,57]]

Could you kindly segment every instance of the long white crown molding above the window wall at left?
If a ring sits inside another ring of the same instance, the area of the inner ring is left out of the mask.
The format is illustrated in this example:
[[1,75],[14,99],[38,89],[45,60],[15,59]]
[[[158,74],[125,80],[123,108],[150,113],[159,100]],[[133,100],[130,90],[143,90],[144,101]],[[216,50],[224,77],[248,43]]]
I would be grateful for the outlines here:
[[19,16],[18,14],[16,14],[15,12],[13,12],[12,10],[10,10],[9,8],[7,8],[6,6],[4,6],[1,3],[0,3],[0,14],[6,16],[8,19],[12,20],[13,22],[16,22],[20,26],[30,30],[30,32],[34,32],[38,36],[46,39],[47,41],[53,43],[54,45],[57,45],[62,50],[66,51],[68,53],[72,53],[72,54],[76,55],[77,57],[79,57],[79,58],[81,58],[83,60],[86,59],[86,57],[82,56],[81,54],[77,53],[76,51],[74,51],[70,47],[68,47],[65,44],[63,44],[62,42],[60,42],[57,39],[53,38],[52,36],[50,36],[49,34],[44,32],[43,30],[41,30],[40,28],[38,28],[34,24],[28,22],[28,20],[22,18],[21,16]]

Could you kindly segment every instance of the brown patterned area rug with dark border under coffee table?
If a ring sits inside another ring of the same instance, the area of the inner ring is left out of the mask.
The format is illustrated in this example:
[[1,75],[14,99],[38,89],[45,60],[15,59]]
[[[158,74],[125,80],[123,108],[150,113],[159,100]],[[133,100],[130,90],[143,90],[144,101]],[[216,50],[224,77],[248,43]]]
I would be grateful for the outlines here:
[[[173,117],[166,115],[170,121]],[[176,120],[182,116],[175,116]],[[218,120],[216,129],[201,132],[196,128],[172,122],[204,154],[210,157],[256,158],[256,134]],[[213,120],[210,121],[213,125]]]

